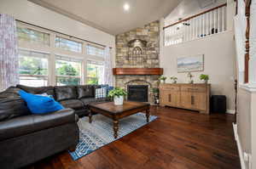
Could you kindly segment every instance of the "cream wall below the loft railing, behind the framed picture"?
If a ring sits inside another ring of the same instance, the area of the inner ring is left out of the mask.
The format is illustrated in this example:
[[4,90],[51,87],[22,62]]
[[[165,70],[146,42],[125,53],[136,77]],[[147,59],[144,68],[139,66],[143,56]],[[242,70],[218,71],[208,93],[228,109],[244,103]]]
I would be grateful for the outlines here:
[[[233,20],[234,9],[234,2],[229,0],[227,20]],[[235,110],[234,79],[236,78],[236,50],[232,25],[233,22],[228,23],[226,32],[166,47],[163,46],[163,37],[160,37],[160,67],[164,68],[164,76],[177,76],[177,82],[188,82],[187,73],[177,73],[177,57],[204,54],[204,71],[193,72],[194,80],[201,82],[199,80],[201,74],[209,75],[212,94],[225,95],[227,109],[230,112]]]

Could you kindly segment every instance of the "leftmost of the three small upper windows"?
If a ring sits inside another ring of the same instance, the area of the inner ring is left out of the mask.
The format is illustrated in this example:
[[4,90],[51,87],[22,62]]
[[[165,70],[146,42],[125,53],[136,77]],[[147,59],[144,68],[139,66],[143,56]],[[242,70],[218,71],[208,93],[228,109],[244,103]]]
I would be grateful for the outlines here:
[[29,28],[17,27],[19,42],[31,42],[49,46],[49,34]]

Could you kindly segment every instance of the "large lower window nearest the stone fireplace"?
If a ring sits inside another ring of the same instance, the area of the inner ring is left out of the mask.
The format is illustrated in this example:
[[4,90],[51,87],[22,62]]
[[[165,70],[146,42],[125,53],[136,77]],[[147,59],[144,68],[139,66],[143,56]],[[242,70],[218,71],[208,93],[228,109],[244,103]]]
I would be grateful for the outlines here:
[[86,84],[102,84],[103,76],[104,76],[103,62],[88,60]]

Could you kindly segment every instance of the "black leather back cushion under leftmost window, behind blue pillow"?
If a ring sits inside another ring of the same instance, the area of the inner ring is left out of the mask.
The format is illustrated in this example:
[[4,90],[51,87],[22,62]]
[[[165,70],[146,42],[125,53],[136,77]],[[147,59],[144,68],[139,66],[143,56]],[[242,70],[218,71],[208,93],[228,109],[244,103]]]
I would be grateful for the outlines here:
[[54,96],[54,87],[27,87],[24,85],[17,85],[16,87],[24,90],[27,93],[32,93],[32,94],[42,94],[42,93],[47,93],[48,95]]

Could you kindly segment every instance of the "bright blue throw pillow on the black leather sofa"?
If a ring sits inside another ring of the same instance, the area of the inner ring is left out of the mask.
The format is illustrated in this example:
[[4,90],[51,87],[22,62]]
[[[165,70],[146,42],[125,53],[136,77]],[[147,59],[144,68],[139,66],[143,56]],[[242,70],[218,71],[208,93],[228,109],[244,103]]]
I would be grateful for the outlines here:
[[26,101],[27,107],[32,114],[44,114],[64,109],[61,104],[45,96],[38,96],[20,90],[20,97]]

